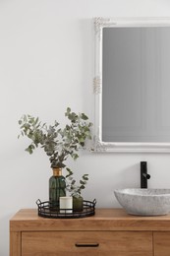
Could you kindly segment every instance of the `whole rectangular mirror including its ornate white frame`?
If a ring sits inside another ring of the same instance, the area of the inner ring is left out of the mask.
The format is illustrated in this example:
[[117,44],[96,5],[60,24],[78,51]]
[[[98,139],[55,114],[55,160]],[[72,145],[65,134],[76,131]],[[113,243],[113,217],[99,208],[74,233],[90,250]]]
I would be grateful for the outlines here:
[[170,21],[94,19],[94,150],[170,152]]

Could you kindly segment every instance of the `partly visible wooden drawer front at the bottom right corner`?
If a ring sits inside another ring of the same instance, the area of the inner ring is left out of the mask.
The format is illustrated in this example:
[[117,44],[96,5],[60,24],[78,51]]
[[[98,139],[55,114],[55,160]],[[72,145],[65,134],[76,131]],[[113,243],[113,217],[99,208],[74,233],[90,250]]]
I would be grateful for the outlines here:
[[153,232],[154,256],[170,256],[170,232]]

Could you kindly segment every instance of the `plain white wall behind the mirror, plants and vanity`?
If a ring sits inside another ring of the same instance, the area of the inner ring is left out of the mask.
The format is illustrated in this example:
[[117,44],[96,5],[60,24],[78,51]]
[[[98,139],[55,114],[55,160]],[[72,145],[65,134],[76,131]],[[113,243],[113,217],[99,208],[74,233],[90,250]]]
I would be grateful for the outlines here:
[[[18,140],[23,113],[64,122],[71,106],[93,118],[91,18],[168,17],[168,0],[0,1],[0,255],[8,256],[9,219],[36,208],[48,196],[49,162],[43,152],[24,151]],[[149,187],[170,187],[170,156],[89,154],[70,161],[78,176],[89,173],[86,199],[118,207],[113,190],[140,186],[140,161],[148,161]]]

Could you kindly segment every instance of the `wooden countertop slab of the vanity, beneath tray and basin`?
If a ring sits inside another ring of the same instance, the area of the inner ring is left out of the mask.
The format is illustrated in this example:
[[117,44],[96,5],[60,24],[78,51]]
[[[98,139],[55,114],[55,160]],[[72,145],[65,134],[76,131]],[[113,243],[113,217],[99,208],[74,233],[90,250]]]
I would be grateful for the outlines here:
[[123,209],[96,209],[95,216],[83,219],[46,219],[25,209],[11,220],[10,230],[170,230],[170,215],[138,217]]

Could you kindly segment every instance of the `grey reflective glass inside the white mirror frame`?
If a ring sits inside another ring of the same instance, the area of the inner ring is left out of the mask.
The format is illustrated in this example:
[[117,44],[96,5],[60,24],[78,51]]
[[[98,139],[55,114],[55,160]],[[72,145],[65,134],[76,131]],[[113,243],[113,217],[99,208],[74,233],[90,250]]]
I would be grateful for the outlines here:
[[170,142],[170,28],[102,30],[103,142]]

